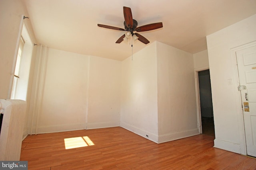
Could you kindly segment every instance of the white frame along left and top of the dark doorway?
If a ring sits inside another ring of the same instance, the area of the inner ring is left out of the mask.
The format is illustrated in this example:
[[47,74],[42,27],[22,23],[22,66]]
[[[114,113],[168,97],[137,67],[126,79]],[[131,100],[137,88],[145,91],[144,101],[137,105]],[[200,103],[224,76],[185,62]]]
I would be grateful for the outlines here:
[[199,89],[199,77],[198,72],[208,70],[209,67],[202,67],[194,69],[195,74],[195,83],[196,83],[196,109],[197,109],[197,121],[198,121],[198,132],[200,134],[203,133],[202,131],[202,119],[201,119],[201,105],[200,105],[200,89]]

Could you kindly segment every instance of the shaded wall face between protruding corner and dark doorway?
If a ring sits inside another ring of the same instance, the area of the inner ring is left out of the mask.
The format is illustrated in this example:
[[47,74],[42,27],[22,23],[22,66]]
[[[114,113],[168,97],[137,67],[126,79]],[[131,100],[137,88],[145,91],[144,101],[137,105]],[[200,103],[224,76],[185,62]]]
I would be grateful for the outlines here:
[[156,43],[159,143],[198,134],[193,55]]

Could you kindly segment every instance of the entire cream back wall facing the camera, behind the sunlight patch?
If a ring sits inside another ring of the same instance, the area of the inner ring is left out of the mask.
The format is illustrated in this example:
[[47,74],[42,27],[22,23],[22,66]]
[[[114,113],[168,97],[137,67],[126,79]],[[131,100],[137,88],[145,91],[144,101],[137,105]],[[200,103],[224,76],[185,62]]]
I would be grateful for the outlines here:
[[[42,56],[44,52],[45,47]],[[39,70],[36,108],[30,112],[32,133],[120,125],[120,61],[48,49],[44,77],[42,65]]]

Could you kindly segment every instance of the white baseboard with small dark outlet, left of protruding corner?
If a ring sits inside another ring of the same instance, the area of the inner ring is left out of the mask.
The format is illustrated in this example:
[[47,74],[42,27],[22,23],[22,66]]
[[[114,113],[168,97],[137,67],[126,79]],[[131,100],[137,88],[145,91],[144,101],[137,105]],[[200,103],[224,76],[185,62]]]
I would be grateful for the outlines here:
[[153,133],[149,133],[147,131],[138,129],[137,127],[128,125],[128,124],[123,123],[123,122],[120,124],[120,127],[124,128],[124,129],[127,129],[128,131],[131,131],[133,133],[136,133],[137,135],[140,135],[140,136],[142,136],[142,137],[144,137],[144,138],[146,138],[146,139],[148,139],[150,141],[158,143],[158,135],[155,135]]

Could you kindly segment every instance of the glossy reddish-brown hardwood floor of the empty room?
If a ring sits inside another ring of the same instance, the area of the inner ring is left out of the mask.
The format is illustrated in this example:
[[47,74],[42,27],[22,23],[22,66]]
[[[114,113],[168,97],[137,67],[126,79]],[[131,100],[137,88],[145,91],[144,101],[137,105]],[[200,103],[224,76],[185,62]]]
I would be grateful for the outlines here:
[[[64,139],[88,146],[65,149]],[[156,144],[122,127],[48,133],[26,137],[20,160],[29,170],[256,169],[256,159],[214,148],[213,140],[202,134]]]

